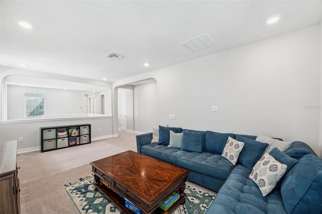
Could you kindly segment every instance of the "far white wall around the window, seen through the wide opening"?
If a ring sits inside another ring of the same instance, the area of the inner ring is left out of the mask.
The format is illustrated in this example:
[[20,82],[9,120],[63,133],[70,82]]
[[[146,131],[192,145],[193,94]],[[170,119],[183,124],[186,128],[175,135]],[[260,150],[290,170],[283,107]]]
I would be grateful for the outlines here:
[[99,105],[99,95],[94,92],[8,85],[8,120],[25,118],[25,92],[45,93],[46,115],[84,113],[85,94],[95,94]]

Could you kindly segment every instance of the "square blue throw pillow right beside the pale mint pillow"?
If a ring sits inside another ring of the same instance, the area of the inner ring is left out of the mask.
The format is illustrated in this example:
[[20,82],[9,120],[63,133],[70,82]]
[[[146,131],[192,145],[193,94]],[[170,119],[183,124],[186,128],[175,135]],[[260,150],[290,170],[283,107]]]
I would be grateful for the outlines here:
[[202,151],[202,134],[198,132],[183,132],[181,150],[187,152]]

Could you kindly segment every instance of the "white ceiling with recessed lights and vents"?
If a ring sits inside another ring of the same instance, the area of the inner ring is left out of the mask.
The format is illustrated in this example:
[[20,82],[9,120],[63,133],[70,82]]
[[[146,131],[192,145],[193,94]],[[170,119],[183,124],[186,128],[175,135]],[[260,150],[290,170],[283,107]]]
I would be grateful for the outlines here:
[[[321,1],[1,1],[1,65],[115,81],[320,21]],[[216,45],[182,45],[203,34]]]

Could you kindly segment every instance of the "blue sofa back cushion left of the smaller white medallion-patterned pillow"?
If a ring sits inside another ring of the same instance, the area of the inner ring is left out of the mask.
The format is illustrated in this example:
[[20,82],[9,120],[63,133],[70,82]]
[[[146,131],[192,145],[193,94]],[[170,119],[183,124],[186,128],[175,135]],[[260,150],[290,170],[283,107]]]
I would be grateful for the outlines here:
[[235,134],[222,134],[217,132],[206,131],[205,134],[205,152],[221,154],[226,145],[228,137],[236,138]]

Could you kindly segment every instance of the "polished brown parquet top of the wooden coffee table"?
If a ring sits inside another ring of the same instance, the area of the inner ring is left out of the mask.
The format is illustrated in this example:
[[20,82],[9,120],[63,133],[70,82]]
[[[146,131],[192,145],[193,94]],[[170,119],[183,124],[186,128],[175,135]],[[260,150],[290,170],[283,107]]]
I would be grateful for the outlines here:
[[133,151],[103,158],[91,165],[147,202],[155,201],[189,174],[188,170]]

